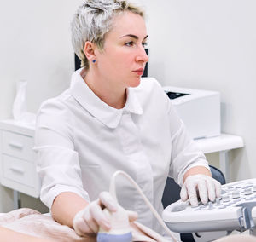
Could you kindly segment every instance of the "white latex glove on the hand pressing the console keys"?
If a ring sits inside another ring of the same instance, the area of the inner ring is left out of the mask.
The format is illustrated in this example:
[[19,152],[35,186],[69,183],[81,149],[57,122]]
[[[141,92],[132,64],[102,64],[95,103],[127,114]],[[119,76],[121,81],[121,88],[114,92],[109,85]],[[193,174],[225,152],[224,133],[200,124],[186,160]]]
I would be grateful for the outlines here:
[[203,204],[207,204],[208,200],[213,202],[221,195],[221,184],[211,176],[188,176],[180,192],[181,199],[189,199],[191,206],[195,207],[198,205],[198,195]]

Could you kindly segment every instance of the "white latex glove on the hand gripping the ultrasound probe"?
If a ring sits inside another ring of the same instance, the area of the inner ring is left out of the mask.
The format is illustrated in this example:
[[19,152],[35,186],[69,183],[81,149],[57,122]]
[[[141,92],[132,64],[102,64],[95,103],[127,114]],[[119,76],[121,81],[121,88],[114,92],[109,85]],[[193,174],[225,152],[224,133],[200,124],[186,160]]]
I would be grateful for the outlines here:
[[[91,202],[84,210],[80,210],[73,218],[73,229],[80,236],[93,235],[99,231],[99,227],[104,230],[111,229],[110,221],[103,213],[103,209],[107,208],[110,212],[118,209],[118,204],[108,192],[102,192],[99,199]],[[130,222],[137,219],[137,213],[127,211]]]

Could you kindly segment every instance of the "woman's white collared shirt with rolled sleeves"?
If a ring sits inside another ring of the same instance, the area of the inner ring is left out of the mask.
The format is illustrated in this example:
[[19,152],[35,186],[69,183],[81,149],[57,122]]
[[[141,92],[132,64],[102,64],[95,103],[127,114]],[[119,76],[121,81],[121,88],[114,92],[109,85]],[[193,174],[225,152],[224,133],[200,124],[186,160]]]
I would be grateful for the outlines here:
[[[80,72],[73,73],[69,89],[44,101],[38,111],[35,150],[41,200],[49,208],[62,192],[94,200],[108,191],[113,173],[124,170],[161,214],[167,176],[182,185],[189,168],[208,168],[203,153],[154,78],[142,78],[137,88],[127,89],[125,107],[115,109],[90,90]],[[117,195],[126,210],[137,211],[138,222],[161,232],[123,177],[117,178]]]

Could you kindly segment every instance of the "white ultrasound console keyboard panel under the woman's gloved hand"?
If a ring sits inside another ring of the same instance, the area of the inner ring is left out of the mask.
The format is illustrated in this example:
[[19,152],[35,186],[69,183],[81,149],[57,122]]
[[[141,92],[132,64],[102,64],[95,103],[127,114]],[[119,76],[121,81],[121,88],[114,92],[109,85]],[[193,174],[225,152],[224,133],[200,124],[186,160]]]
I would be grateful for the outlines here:
[[168,228],[178,233],[247,229],[254,233],[256,178],[222,185],[221,198],[206,205],[191,207],[188,201],[178,200],[166,207],[162,217]]

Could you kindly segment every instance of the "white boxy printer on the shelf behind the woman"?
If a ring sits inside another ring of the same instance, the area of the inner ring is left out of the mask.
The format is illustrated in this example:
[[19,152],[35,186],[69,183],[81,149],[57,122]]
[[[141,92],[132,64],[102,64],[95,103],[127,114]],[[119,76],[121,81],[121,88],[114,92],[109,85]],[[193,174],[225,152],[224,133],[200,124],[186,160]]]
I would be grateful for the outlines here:
[[217,91],[163,87],[194,139],[220,135],[220,94]]

